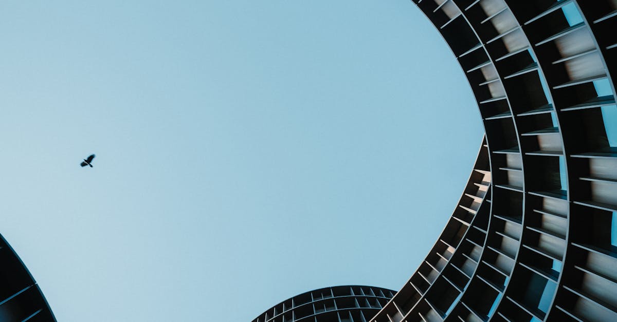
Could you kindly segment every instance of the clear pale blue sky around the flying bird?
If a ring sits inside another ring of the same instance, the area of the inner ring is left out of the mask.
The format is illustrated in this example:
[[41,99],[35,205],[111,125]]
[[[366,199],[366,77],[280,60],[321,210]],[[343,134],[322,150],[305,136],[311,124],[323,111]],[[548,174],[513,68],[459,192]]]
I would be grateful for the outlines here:
[[63,322],[399,289],[482,138],[406,0],[3,1],[0,39],[0,232]]

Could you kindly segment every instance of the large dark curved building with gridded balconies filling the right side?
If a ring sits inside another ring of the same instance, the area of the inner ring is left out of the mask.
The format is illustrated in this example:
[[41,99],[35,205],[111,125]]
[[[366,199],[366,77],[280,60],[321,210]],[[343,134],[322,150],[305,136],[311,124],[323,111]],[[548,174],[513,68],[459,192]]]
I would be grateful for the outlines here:
[[489,162],[371,321],[617,321],[617,1],[413,2],[470,83]]

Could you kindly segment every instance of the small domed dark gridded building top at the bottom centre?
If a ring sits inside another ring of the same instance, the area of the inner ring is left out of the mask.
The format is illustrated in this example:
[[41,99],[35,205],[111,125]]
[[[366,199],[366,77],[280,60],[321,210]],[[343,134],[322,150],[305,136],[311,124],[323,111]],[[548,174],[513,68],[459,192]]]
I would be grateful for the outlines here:
[[373,286],[325,287],[284,300],[252,322],[366,322],[394,293]]

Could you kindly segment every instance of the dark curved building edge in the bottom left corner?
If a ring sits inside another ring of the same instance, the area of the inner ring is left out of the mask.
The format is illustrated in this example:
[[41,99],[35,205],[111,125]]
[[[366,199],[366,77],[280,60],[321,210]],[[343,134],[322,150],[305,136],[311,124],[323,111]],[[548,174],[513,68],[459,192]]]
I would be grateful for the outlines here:
[[1,235],[0,321],[56,321],[41,289]]

